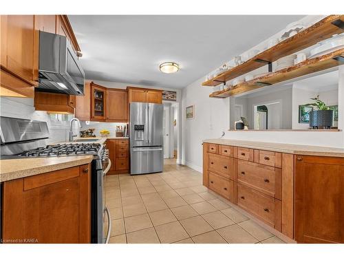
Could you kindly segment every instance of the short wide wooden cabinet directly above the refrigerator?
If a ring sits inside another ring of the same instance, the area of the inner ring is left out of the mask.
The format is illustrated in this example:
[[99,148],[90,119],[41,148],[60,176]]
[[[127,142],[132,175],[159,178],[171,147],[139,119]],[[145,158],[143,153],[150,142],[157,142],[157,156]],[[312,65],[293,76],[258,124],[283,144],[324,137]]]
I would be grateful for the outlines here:
[[141,89],[136,87],[127,87],[128,101],[143,103],[162,103],[162,91],[157,89]]

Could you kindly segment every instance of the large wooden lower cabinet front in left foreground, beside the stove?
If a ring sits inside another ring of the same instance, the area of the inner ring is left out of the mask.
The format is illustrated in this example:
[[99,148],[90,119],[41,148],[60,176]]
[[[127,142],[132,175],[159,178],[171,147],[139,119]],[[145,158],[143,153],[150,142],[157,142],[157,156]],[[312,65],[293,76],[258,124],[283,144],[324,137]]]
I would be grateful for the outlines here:
[[90,243],[91,166],[3,182],[7,243]]

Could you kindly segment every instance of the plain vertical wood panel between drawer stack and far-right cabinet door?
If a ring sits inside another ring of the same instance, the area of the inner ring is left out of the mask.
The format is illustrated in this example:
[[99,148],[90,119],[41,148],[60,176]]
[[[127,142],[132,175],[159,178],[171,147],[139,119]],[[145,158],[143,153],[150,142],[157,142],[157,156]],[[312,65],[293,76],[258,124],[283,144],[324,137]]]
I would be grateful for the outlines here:
[[282,153],[282,230],[294,239],[294,155]]

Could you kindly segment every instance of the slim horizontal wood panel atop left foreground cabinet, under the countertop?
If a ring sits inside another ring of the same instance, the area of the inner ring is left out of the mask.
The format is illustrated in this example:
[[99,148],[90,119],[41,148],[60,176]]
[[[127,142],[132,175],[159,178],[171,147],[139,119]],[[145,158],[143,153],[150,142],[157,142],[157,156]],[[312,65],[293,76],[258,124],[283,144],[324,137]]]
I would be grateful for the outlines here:
[[68,169],[62,169],[59,171],[44,173],[40,175],[32,175],[28,178],[24,178],[24,191],[34,189],[47,184],[53,184],[68,180],[70,178],[77,178],[79,176],[78,166],[74,166]]

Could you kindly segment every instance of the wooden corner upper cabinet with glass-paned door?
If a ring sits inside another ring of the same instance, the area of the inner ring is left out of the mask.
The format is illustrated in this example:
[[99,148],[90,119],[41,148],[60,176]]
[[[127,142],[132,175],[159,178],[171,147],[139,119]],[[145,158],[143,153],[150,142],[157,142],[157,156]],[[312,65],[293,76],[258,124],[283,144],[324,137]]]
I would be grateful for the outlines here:
[[105,121],[107,107],[107,89],[91,83],[91,120]]

